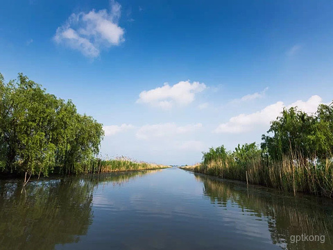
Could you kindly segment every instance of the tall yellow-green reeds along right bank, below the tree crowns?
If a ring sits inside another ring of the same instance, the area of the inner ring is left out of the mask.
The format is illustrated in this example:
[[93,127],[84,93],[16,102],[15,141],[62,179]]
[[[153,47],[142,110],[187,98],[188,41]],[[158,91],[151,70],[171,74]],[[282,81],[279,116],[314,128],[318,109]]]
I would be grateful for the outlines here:
[[217,157],[203,161],[194,167],[194,172],[219,176],[248,183],[265,185],[288,192],[305,192],[333,197],[333,157],[323,161],[303,158],[291,151],[282,160],[271,160],[260,154],[240,163],[234,153],[225,158]]

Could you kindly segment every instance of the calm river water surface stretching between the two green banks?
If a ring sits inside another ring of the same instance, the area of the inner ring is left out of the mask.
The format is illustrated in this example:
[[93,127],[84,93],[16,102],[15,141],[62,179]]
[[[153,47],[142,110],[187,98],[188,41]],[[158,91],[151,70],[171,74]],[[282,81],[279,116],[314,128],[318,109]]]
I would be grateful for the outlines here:
[[0,249],[333,249],[332,205],[174,168],[0,181]]

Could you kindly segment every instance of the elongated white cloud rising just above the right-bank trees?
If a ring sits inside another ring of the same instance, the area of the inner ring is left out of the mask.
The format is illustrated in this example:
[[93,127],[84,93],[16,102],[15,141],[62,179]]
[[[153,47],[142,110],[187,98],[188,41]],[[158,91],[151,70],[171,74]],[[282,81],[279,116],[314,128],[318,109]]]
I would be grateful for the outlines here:
[[[287,106],[291,108],[298,106],[298,108],[305,113],[315,113],[318,105],[322,103],[321,97],[314,95],[307,101],[296,101]],[[278,101],[271,104],[266,108],[252,113],[249,115],[241,114],[236,117],[232,117],[228,122],[220,124],[215,130],[215,133],[244,133],[246,131],[253,130],[256,126],[268,126],[271,121],[276,119],[284,108],[284,103]]]

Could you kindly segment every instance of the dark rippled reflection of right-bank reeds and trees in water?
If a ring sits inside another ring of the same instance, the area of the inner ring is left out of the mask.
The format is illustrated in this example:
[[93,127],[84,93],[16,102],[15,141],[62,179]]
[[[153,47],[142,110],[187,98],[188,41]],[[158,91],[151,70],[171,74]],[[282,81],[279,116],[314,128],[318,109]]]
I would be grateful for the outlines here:
[[[203,192],[212,203],[225,208],[228,203],[237,203],[244,215],[266,217],[273,244],[285,249],[333,249],[331,200],[309,196],[295,198],[278,192],[261,192],[253,187],[247,192],[246,186],[242,188],[238,183],[201,175],[196,178],[203,181]],[[246,213],[248,210],[251,213]],[[325,235],[325,243],[291,243],[291,235],[302,234]]]

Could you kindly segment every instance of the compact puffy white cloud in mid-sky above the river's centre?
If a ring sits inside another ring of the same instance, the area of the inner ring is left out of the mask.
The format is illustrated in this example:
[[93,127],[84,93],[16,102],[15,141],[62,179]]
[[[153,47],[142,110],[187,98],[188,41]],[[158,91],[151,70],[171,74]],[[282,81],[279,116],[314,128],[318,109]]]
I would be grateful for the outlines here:
[[164,83],[163,87],[153,90],[144,90],[139,94],[137,103],[148,103],[164,110],[171,109],[175,104],[187,105],[194,101],[195,94],[205,90],[205,83],[180,81],[173,86]]

